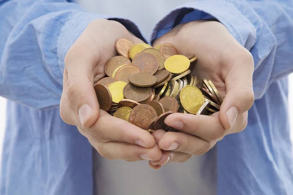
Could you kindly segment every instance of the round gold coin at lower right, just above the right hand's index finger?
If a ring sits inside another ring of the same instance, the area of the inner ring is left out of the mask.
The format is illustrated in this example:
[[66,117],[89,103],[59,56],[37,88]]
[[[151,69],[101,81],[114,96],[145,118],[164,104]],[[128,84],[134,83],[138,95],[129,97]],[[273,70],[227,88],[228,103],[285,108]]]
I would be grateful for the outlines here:
[[180,102],[184,110],[190,114],[196,114],[205,103],[205,98],[197,87],[187,85],[180,92]]

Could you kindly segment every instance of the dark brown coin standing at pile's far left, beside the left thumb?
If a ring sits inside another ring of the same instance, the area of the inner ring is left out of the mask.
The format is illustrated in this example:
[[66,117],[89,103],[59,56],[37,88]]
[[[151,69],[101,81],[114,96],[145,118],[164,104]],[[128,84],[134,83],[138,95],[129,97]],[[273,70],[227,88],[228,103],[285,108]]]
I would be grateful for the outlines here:
[[112,106],[112,96],[105,85],[96,84],[95,91],[100,104],[100,109],[108,111]]

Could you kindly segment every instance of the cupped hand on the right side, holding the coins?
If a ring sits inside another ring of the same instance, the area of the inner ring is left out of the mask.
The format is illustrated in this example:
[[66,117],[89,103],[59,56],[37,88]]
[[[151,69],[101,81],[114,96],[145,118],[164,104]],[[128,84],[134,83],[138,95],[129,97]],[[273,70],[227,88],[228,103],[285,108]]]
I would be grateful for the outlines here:
[[205,154],[224,136],[244,130],[254,101],[251,53],[221,23],[199,20],[180,24],[157,39],[154,47],[163,43],[174,44],[183,55],[195,54],[198,60],[191,74],[200,80],[209,78],[224,101],[220,111],[211,116],[168,116],[165,123],[180,132],[159,130],[152,134],[164,150],[160,160],[149,163],[153,168]]

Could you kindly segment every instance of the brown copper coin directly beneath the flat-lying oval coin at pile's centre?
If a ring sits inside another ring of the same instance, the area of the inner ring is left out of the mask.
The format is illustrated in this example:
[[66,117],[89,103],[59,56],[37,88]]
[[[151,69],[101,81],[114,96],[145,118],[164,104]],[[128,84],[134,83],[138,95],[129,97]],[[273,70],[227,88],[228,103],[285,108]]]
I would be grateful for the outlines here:
[[128,83],[123,89],[123,95],[127,99],[132,99],[137,102],[146,101],[152,93],[150,87],[136,87]]

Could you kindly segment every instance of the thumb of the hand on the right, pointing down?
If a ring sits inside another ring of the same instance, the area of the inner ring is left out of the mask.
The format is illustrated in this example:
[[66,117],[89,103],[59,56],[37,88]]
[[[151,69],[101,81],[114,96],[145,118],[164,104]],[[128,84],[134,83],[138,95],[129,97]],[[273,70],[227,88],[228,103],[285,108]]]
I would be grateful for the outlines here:
[[[246,49],[236,60],[225,60],[230,70],[224,75],[226,96],[220,109],[220,120],[225,129],[231,129],[239,114],[248,111],[254,101],[252,89],[253,58]],[[230,64],[230,65],[229,65]]]

